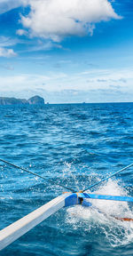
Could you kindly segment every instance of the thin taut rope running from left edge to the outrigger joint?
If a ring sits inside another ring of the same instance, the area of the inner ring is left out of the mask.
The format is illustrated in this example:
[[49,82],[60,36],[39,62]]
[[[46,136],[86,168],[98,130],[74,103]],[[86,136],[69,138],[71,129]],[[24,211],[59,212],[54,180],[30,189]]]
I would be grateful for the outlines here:
[[33,174],[33,175],[35,175],[36,177],[39,177],[39,178],[41,178],[41,179],[43,179],[43,180],[46,180],[47,182],[50,182],[50,183],[52,183],[52,184],[54,184],[54,185],[58,185],[58,186],[61,187],[61,188],[66,188],[67,190],[70,190],[71,192],[74,192],[74,189],[72,189],[72,188],[67,188],[67,187],[64,186],[64,185],[60,185],[59,183],[57,183],[57,182],[55,182],[55,181],[46,179],[46,178],[44,178],[43,176],[41,176],[41,175],[39,175],[39,174],[37,174],[37,173],[35,173],[35,172],[28,171],[27,169],[25,169],[25,168],[23,168],[23,167],[20,167],[20,166],[18,166],[18,165],[16,165],[16,164],[12,164],[12,163],[10,163],[10,162],[8,162],[8,161],[5,161],[4,159],[0,159],[0,161],[3,162],[4,164],[10,164],[10,165],[12,165],[12,167],[15,167],[15,168],[17,168],[17,169],[20,169],[20,170],[22,170],[22,171],[24,171],[24,172],[28,172],[28,173],[30,173],[30,174]]

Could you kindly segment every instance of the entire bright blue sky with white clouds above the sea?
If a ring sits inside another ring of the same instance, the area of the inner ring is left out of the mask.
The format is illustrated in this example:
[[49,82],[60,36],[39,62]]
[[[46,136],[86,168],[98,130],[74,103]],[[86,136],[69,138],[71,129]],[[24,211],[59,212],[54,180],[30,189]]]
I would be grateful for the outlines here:
[[0,96],[133,102],[132,0],[0,0]]

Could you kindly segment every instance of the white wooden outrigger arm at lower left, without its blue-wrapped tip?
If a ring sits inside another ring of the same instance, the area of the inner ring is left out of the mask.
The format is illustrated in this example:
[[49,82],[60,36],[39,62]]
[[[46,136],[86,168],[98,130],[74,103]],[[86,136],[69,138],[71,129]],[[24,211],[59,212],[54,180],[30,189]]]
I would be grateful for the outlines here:
[[7,245],[12,244],[20,236],[26,234],[30,229],[35,228],[36,225],[47,219],[51,214],[58,212],[59,209],[65,206],[65,199],[69,196],[62,195],[54,198],[49,203],[36,209],[34,212],[27,214],[20,220],[15,221],[7,228],[0,231],[0,251]]

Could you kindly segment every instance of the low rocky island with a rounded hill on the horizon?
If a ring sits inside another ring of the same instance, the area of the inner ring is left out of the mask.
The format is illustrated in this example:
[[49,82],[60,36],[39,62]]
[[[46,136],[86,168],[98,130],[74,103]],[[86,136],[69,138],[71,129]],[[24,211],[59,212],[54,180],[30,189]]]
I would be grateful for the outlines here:
[[34,97],[25,99],[0,97],[0,105],[43,105],[44,100],[42,97],[35,95]]

